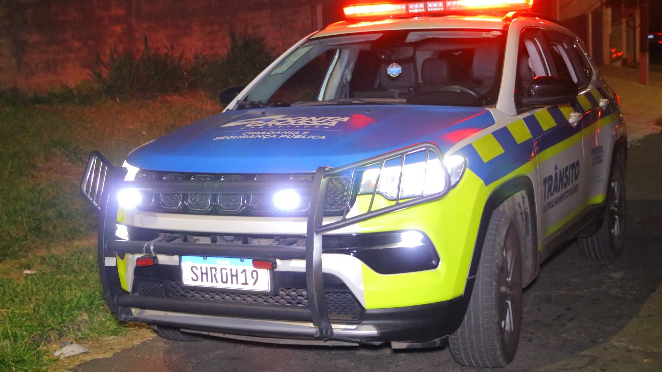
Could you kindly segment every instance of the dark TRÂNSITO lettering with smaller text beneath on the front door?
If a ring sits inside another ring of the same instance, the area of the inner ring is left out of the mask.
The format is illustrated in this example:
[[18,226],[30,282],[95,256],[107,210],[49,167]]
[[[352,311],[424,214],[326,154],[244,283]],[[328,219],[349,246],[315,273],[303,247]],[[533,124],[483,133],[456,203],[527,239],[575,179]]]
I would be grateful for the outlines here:
[[542,180],[542,189],[545,201],[543,212],[547,212],[547,210],[577,193],[579,189],[579,160],[565,165],[561,169],[554,165],[553,173]]

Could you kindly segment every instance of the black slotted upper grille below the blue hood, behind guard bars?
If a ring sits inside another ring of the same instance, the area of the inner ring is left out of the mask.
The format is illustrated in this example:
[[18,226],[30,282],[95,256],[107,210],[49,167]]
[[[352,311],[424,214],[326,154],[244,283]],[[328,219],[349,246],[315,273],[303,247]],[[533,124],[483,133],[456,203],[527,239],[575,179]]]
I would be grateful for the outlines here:
[[[312,187],[313,175],[209,175],[140,171],[136,181],[196,182],[196,181],[306,181]],[[350,203],[350,176],[329,180],[324,212],[341,214]],[[278,190],[274,190],[275,193]],[[273,193],[155,193],[142,196],[138,209],[155,212],[183,212],[203,214],[242,214],[288,216],[305,214],[310,205],[310,194],[301,195],[300,207],[290,212],[279,211],[273,203]]]

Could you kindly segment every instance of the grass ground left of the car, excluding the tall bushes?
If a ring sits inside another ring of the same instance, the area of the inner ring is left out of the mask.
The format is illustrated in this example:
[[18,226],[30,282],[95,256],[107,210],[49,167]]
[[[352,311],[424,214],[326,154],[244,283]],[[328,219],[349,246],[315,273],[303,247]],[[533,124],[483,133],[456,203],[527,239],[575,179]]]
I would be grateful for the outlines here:
[[140,144],[220,110],[203,92],[119,103],[0,102],[0,371],[50,369],[49,348],[131,327],[115,320],[101,295],[89,243],[96,214],[78,194],[87,154],[100,150],[120,165]]

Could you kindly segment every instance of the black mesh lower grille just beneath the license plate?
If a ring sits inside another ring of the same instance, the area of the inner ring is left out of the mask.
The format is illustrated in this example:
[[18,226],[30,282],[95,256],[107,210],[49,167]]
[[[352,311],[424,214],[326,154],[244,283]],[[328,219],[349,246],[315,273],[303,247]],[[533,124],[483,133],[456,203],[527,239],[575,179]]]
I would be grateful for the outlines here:
[[[137,279],[134,295],[169,297],[175,299],[197,299],[209,301],[266,304],[274,306],[308,306],[308,291],[301,288],[279,288],[276,294],[227,293],[185,288],[179,281]],[[332,318],[358,320],[363,308],[351,293],[327,292],[324,294],[326,309]]]

